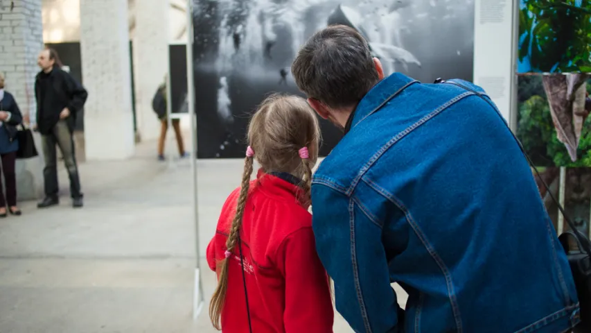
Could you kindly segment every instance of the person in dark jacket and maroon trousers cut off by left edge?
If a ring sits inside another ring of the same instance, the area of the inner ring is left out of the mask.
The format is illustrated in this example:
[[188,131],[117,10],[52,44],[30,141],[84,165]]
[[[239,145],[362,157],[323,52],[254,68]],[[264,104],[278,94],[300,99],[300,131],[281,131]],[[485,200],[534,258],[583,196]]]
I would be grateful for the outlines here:
[[15,162],[19,141],[16,126],[23,120],[17,101],[9,92],[4,91],[4,76],[0,74],[0,160],[4,174],[6,197],[2,193],[0,178],[0,218],[7,216],[6,205],[12,215],[20,215],[17,207],[17,176]]

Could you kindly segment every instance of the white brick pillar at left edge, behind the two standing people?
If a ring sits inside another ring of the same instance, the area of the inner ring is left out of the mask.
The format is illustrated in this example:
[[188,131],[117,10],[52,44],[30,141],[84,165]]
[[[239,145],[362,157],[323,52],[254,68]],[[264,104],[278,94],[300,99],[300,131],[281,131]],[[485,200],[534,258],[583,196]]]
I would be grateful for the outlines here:
[[[0,71],[6,90],[15,95],[21,111],[35,117],[37,54],[43,48],[41,0],[0,0]],[[32,119],[34,120],[34,119]]]

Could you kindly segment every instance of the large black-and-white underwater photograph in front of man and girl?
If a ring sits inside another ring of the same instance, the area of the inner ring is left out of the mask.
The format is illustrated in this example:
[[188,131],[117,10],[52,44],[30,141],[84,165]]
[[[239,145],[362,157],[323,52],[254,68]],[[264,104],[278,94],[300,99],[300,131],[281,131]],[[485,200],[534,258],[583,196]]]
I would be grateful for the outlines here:
[[[473,0],[193,0],[193,8],[199,158],[244,155],[249,115],[272,92],[301,94],[292,60],[331,24],[360,31],[386,75],[473,79]],[[327,155],[342,133],[324,120],[321,128]]]

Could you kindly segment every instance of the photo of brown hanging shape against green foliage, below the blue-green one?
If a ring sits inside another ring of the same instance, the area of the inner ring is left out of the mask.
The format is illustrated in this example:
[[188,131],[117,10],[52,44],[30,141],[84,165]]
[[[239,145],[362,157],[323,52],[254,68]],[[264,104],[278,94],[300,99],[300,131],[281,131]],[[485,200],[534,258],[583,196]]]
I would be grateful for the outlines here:
[[591,167],[591,76],[520,75],[517,135],[540,167]]

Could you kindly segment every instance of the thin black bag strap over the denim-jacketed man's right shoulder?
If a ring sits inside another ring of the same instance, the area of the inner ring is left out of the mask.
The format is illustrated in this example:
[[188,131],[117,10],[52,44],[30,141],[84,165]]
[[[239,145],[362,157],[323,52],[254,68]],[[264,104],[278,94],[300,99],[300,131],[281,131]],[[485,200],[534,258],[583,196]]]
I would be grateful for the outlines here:
[[554,203],[556,203],[556,205],[558,206],[558,210],[561,211],[561,214],[563,214],[567,224],[570,226],[570,229],[572,230],[572,233],[574,234],[574,237],[576,237],[577,240],[577,244],[579,244],[579,250],[583,250],[585,251],[585,253],[587,253],[588,255],[591,256],[591,246],[590,246],[590,241],[589,239],[582,233],[580,232],[576,226],[574,225],[574,223],[572,223],[571,219],[568,217],[568,215],[565,213],[565,210],[563,208],[563,206],[558,203],[558,200],[556,200],[556,198],[554,197],[554,194],[552,194],[552,191],[550,191],[549,186],[546,184],[546,182],[543,180],[543,178],[540,176],[540,172],[538,171],[538,169],[536,168],[535,165],[533,165],[533,162],[531,161],[531,158],[529,158],[529,155],[527,155],[527,153],[525,152],[525,149],[523,148],[523,145],[521,144],[521,142],[519,141],[519,139],[515,136],[515,134],[513,133],[513,131],[511,130],[511,128],[509,127],[509,124],[505,121],[505,119],[503,118],[503,116],[500,114],[499,110],[497,110],[496,105],[493,103],[493,101],[490,100],[490,97],[488,99],[485,99],[484,96],[488,97],[486,94],[482,94],[481,92],[477,92],[474,89],[470,89],[464,85],[461,85],[459,83],[453,82],[453,81],[446,81],[446,80],[441,80],[441,78],[438,78],[437,80],[435,80],[435,83],[448,83],[451,85],[457,85],[458,87],[461,87],[465,90],[468,90],[468,92],[473,92],[476,96],[479,96],[483,101],[486,101],[486,103],[488,103],[488,105],[491,105],[491,107],[493,108],[493,110],[495,110],[495,112],[497,112],[497,115],[499,117],[501,117],[503,123],[506,125],[507,129],[509,129],[509,133],[511,133],[511,135],[513,135],[513,139],[515,139],[515,142],[517,142],[519,148],[521,149],[521,152],[523,153],[523,155],[525,156],[525,158],[527,159],[527,162],[529,163],[529,165],[531,166],[531,168],[533,168],[533,171],[536,171],[536,175],[538,176],[538,178],[540,179],[540,181],[542,182],[542,184],[544,185],[544,187],[546,188],[546,191],[548,192],[548,194],[550,195],[550,198],[552,198],[552,200],[554,201]]

